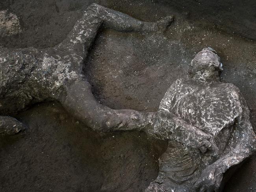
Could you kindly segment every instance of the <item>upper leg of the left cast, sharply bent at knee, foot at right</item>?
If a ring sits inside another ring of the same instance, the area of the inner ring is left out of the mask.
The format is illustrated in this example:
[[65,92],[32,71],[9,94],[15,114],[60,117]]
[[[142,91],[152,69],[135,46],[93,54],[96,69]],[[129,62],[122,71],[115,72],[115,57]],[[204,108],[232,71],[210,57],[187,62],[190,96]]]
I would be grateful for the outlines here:
[[166,27],[172,21],[173,17],[169,16],[159,22],[143,22],[113,9],[92,4],[76,22],[67,38],[56,48],[73,49],[76,54],[84,57],[100,26],[123,32],[150,32]]

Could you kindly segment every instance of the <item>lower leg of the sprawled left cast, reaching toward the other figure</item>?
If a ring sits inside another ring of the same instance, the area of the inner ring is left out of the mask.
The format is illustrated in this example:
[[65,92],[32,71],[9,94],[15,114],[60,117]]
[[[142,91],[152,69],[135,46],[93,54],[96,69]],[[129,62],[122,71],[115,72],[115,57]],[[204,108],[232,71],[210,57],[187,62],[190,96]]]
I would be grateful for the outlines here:
[[141,130],[151,123],[154,113],[141,113],[130,109],[110,109],[99,104],[91,85],[84,79],[68,82],[58,100],[74,117],[96,131]]

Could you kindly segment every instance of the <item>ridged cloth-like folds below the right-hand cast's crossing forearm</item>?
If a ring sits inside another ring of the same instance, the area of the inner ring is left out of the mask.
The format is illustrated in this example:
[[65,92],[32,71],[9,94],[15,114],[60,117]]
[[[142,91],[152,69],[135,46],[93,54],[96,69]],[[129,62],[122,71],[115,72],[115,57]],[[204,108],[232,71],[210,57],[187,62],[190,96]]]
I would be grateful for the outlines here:
[[189,192],[200,176],[199,152],[169,141],[167,150],[159,158],[159,172],[145,192]]

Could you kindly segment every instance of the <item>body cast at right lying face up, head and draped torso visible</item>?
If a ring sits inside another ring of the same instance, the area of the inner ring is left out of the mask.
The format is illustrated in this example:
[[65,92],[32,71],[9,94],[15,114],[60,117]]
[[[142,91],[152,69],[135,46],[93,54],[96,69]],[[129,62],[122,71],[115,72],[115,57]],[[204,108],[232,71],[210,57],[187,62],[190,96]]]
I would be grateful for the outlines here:
[[167,90],[146,130],[169,142],[146,192],[218,192],[223,174],[255,150],[249,109],[235,85],[220,82],[215,50],[204,48],[191,68],[190,79]]

